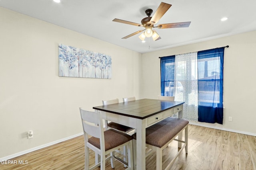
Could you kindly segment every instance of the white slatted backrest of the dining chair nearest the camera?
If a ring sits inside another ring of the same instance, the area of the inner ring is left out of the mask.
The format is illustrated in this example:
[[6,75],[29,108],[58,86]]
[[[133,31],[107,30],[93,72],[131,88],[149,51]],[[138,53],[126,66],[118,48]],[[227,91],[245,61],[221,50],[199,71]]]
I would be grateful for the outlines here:
[[[84,128],[84,140],[88,141],[88,135],[100,139],[100,148],[105,148],[104,130],[102,123],[102,115],[98,111],[86,111],[80,107],[80,114]],[[104,146],[104,147],[102,147]]]

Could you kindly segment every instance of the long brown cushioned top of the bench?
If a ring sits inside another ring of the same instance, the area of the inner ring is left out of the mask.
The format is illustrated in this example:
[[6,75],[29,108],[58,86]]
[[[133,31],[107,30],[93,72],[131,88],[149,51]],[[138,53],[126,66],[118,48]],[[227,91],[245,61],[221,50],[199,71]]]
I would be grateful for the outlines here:
[[[168,141],[175,137],[188,121],[176,117],[168,117],[148,128],[146,128],[146,143],[162,148]],[[136,133],[132,135],[136,139]]]

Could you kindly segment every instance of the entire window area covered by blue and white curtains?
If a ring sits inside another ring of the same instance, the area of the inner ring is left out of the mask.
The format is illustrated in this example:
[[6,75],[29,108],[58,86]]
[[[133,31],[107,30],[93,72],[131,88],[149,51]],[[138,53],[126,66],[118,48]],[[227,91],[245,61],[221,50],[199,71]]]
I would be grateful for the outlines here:
[[224,47],[161,57],[161,95],[184,101],[184,118],[223,123]]

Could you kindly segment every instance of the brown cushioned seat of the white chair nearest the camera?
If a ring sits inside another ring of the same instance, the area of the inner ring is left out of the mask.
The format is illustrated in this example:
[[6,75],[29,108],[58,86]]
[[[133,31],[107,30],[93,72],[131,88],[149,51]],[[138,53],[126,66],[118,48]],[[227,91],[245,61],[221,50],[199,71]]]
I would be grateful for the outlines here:
[[[114,147],[118,147],[119,145],[122,145],[130,140],[132,140],[132,136],[127,135],[125,133],[116,131],[114,129],[108,129],[107,131],[104,131],[104,137],[105,137],[105,150],[112,149]],[[116,140],[118,139],[118,140]],[[88,143],[92,144],[94,147],[97,147],[100,149],[100,139],[96,137],[90,137],[88,139]]]

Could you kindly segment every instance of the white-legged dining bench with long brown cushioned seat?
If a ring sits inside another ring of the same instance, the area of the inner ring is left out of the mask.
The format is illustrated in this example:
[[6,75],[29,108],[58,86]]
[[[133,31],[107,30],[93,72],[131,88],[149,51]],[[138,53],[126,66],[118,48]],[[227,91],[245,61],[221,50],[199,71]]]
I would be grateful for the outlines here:
[[[168,117],[148,128],[146,128],[146,147],[156,152],[156,170],[162,170],[162,150],[164,150],[173,141],[184,143],[178,153],[170,161],[164,170],[170,169],[176,158],[185,148],[188,153],[188,121],[176,117]],[[179,133],[185,129],[184,141],[175,139]],[[134,164],[136,164],[136,133],[132,135]],[[148,156],[149,153],[146,154]]]

